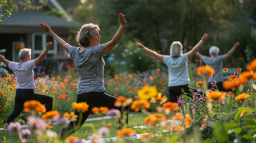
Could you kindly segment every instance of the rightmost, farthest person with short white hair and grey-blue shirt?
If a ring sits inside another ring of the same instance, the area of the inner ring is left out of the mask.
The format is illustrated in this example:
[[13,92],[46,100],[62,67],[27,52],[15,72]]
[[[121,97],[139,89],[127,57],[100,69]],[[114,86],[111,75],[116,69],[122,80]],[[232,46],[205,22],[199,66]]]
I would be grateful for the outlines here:
[[[223,69],[223,64],[222,62],[227,60],[230,56],[232,56],[232,54],[234,53],[234,51],[236,51],[237,47],[240,45],[239,42],[235,43],[234,46],[229,50],[228,53],[226,54],[222,54],[222,55],[218,55],[218,53],[220,52],[220,49],[216,46],[212,46],[209,49],[209,54],[210,57],[208,56],[204,56],[203,54],[197,52],[196,56],[199,56],[199,58],[204,61],[204,63],[206,65],[211,66],[214,70],[214,77],[213,75],[210,76],[210,78],[208,79],[208,88],[209,89],[216,89],[215,84],[218,88],[219,91],[225,91],[225,89],[223,88],[223,75],[222,75],[222,69]],[[217,82],[217,83],[215,83]]]

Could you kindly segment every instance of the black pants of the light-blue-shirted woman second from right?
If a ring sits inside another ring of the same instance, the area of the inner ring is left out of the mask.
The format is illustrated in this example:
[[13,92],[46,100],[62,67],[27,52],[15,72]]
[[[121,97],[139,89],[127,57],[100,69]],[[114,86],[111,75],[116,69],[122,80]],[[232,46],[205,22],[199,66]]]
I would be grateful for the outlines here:
[[183,94],[182,91],[187,93],[187,96],[190,96],[192,98],[191,92],[196,92],[196,89],[191,89],[192,91],[189,90],[188,85],[169,86],[169,102],[177,102],[177,98],[179,98],[179,96]]

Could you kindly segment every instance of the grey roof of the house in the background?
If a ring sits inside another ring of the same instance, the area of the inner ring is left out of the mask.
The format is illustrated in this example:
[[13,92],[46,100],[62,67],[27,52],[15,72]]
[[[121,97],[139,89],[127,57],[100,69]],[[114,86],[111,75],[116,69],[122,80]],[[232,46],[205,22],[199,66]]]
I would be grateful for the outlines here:
[[41,11],[18,11],[14,12],[10,18],[2,19],[0,26],[38,27],[39,23],[47,23],[51,27],[71,27],[72,25],[67,19],[53,15],[44,15]]

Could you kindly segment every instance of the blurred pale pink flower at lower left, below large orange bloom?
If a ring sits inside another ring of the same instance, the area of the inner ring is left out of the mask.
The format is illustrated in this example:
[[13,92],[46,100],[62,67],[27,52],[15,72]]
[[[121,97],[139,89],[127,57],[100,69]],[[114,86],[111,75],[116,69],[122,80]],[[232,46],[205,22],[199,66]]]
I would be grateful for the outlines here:
[[35,129],[44,131],[46,129],[44,128],[44,120],[38,117],[28,116],[27,124],[31,131],[34,131]]

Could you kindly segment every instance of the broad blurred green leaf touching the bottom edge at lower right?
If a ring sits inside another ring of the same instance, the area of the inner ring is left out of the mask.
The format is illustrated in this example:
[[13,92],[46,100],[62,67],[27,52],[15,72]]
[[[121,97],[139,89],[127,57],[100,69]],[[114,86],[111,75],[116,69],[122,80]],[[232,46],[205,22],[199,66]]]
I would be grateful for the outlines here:
[[213,136],[218,142],[225,142],[228,139],[228,132],[221,121],[218,121],[213,128]]

